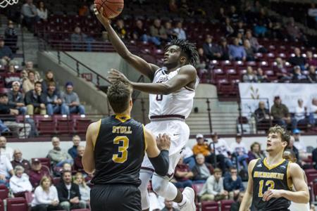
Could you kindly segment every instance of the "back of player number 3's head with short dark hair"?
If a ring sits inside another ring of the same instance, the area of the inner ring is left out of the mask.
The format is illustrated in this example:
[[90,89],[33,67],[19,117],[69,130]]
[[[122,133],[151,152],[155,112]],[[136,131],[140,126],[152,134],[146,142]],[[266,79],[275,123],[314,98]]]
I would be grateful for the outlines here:
[[107,91],[108,101],[115,113],[123,113],[129,106],[132,87],[127,82],[120,80],[114,82]]

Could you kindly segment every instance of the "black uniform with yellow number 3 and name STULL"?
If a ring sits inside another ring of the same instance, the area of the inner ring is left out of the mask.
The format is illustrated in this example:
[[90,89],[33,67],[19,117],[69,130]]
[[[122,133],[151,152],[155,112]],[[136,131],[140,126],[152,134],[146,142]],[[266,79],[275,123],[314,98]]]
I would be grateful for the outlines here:
[[142,210],[138,186],[144,141],[143,125],[128,116],[101,120],[94,143],[92,211]]

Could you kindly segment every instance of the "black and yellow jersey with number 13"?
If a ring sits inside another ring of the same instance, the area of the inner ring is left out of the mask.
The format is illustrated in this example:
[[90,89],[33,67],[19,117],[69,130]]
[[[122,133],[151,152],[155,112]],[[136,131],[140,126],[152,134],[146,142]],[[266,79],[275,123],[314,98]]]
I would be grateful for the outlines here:
[[288,184],[288,167],[290,162],[283,159],[282,162],[269,166],[266,158],[256,161],[252,170],[253,198],[251,211],[285,211],[290,207],[290,200],[286,198],[271,198],[263,201],[263,194],[269,189],[292,190]]

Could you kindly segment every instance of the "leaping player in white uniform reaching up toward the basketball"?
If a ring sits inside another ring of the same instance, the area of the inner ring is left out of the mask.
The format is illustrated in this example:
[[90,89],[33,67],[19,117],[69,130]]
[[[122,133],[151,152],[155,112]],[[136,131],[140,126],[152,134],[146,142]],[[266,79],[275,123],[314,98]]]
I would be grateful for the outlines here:
[[125,80],[132,84],[133,89],[149,93],[149,119],[151,122],[146,125],[146,128],[155,136],[167,133],[171,139],[170,167],[166,177],[154,173],[154,168],[147,155],[144,157],[140,172],[142,184],[139,186],[142,195],[142,210],[149,209],[147,184],[152,175],[152,188],[156,193],[166,200],[178,203],[181,210],[196,210],[194,190],[187,187],[181,193],[170,183],[182,148],[185,147],[189,139],[189,127],[185,123],[185,119],[192,110],[194,91],[199,82],[197,71],[193,66],[198,59],[196,46],[185,40],[171,41],[170,45],[166,47],[163,59],[166,68],[159,68],[130,53],[111,27],[108,19],[101,15],[103,11],[98,13],[95,6],[94,12],[106,28],[108,37],[119,55],[143,75],[149,77],[152,83],[130,82],[116,70],[111,72],[109,79]]

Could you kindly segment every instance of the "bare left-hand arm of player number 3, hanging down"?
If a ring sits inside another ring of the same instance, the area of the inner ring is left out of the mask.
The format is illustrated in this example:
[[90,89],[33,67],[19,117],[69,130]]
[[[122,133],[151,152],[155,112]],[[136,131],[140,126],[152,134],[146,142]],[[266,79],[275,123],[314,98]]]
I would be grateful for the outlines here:
[[100,121],[89,124],[86,132],[86,146],[84,155],[82,155],[82,166],[88,174],[94,172],[94,143],[98,136],[99,125]]

